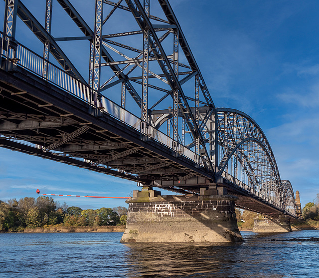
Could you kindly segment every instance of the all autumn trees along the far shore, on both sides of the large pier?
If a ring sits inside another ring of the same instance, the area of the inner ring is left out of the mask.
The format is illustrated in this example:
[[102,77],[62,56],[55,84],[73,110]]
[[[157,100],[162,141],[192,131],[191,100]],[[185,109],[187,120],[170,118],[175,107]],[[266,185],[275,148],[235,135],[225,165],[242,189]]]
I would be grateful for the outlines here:
[[[82,210],[60,205],[51,197],[31,197],[0,201],[0,233],[81,233],[124,232],[128,209],[125,207]],[[235,209],[240,231],[252,231],[256,212]],[[291,222],[293,231],[319,230],[319,194],[302,210],[303,220]]]

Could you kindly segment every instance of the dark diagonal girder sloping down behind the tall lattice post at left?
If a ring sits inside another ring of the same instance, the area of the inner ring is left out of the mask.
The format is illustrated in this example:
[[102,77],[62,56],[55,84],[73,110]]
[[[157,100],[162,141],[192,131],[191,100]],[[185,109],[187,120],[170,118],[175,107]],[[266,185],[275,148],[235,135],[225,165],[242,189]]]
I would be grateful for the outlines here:
[[[81,17],[81,15],[77,12],[77,10],[73,7],[69,0],[57,0],[59,4],[63,7],[66,13],[71,17],[71,19],[75,22],[75,24],[80,28],[80,30],[84,33],[85,36],[94,36],[94,32],[89,27],[89,25],[85,22],[85,20]],[[104,0],[105,2],[105,0]],[[106,62],[114,62],[114,59],[109,54],[109,52],[105,49],[103,45],[101,45],[101,57]],[[118,78],[124,80],[126,82],[127,90],[132,95],[135,102],[142,107],[142,98],[138,94],[138,92],[134,89],[131,82],[127,80],[127,76],[122,72],[118,65],[111,65],[110,68],[115,73]]]

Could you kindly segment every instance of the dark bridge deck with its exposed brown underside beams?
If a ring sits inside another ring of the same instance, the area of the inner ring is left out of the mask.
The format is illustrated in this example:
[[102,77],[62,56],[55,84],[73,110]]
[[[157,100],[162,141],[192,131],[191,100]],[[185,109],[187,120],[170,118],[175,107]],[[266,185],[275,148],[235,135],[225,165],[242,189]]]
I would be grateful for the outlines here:
[[[2,147],[174,192],[212,185],[206,168],[23,68],[0,69],[0,89]],[[238,207],[283,213],[232,182],[218,186]]]

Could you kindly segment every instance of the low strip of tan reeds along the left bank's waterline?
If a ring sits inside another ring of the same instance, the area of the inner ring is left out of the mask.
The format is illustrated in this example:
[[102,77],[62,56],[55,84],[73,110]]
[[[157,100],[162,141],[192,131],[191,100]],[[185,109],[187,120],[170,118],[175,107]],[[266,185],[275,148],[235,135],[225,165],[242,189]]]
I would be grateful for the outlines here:
[[8,231],[6,233],[124,233],[125,225],[121,226],[77,226],[77,227],[64,227],[64,226],[49,226],[37,228],[25,228],[22,231]]

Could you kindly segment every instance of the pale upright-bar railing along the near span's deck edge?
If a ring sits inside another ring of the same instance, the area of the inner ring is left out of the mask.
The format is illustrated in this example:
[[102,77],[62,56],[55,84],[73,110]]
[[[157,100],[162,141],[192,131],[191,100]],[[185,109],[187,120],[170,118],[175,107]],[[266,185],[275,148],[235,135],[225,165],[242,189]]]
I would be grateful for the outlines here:
[[[172,138],[157,130],[152,126],[148,126],[147,132],[141,128],[142,120],[133,113],[122,108],[107,97],[98,94],[91,87],[79,81],[74,76],[66,73],[56,65],[39,56],[32,50],[23,46],[18,42],[12,42],[9,37],[3,36],[0,32],[1,38],[1,56],[16,65],[31,71],[42,79],[58,86],[64,91],[75,95],[81,100],[89,103],[94,108],[101,112],[108,113],[112,117],[126,123],[134,129],[144,133],[146,136],[155,139],[166,147],[176,151],[192,161],[196,162],[196,154],[185,146],[175,142]],[[14,45],[15,50],[10,47]],[[177,146],[177,148],[175,147]],[[201,161],[200,161],[201,162]]]

